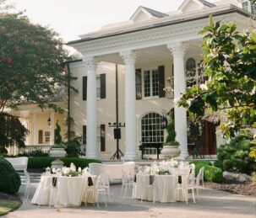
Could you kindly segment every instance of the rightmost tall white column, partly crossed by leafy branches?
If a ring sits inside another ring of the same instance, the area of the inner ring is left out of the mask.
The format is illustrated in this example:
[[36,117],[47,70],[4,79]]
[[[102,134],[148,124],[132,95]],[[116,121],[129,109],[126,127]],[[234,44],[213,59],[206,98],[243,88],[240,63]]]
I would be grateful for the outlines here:
[[187,137],[187,112],[182,107],[177,107],[177,99],[185,91],[185,70],[184,70],[184,45],[182,42],[167,45],[173,56],[173,76],[174,76],[174,114],[176,140],[180,143],[181,157],[188,157],[188,137]]

